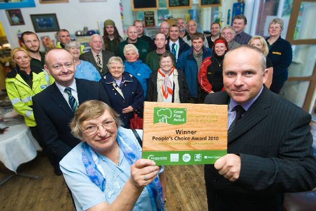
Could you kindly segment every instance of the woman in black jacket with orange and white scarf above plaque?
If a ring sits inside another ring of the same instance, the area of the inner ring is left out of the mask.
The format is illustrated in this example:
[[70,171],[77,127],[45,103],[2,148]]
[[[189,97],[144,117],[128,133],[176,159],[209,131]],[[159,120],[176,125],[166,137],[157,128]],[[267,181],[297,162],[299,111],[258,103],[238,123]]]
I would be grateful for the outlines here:
[[173,65],[170,52],[159,58],[160,68],[151,74],[147,89],[147,101],[189,103],[189,89],[181,70]]

